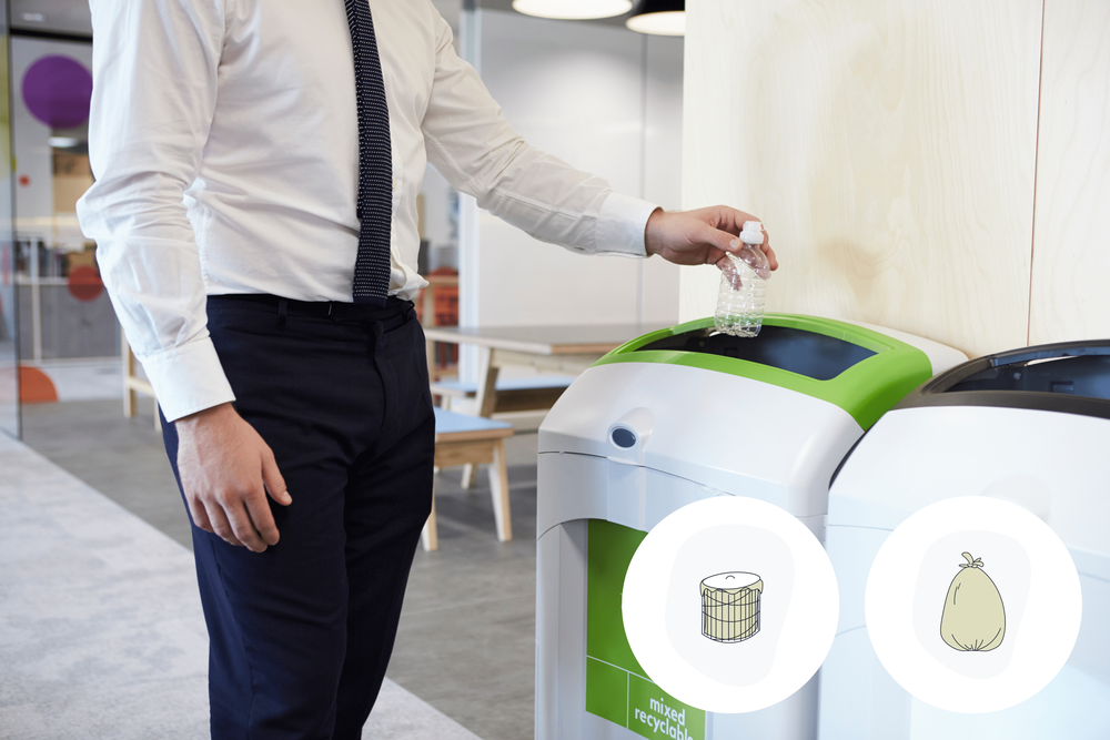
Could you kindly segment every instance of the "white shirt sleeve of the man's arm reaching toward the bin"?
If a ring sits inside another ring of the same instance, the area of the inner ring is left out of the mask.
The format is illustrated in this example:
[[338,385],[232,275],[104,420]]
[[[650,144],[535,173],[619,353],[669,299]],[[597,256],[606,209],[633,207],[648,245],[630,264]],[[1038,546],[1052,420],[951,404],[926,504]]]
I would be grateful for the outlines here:
[[501,114],[436,17],[435,80],[424,114],[428,161],[481,207],[532,236],[587,254],[645,256],[656,205],[528,145]]

